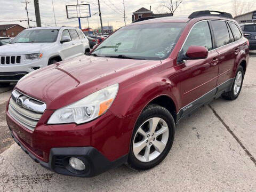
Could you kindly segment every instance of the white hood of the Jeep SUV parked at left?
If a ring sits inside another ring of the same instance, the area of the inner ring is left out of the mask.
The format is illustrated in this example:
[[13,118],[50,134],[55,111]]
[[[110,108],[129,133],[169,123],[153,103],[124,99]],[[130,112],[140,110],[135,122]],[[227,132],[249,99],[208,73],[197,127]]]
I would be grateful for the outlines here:
[[0,55],[38,53],[43,47],[51,45],[52,43],[11,43],[0,47]]

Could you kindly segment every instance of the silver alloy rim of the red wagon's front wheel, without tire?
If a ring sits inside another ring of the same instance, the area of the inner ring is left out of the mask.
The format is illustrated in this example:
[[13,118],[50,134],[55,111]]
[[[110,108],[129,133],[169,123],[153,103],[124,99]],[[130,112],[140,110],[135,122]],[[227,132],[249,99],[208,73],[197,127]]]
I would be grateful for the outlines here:
[[169,127],[164,119],[153,117],[137,130],[133,140],[133,154],[141,162],[150,162],[165,149],[169,139]]

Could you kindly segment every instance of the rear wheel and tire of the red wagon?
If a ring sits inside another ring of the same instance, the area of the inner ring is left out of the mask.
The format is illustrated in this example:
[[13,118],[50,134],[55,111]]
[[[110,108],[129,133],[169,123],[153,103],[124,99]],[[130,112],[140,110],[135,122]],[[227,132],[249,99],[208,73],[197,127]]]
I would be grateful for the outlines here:
[[226,100],[235,100],[238,98],[243,86],[244,81],[244,69],[242,66],[239,66],[236,72],[236,76],[229,92],[223,93],[222,98]]

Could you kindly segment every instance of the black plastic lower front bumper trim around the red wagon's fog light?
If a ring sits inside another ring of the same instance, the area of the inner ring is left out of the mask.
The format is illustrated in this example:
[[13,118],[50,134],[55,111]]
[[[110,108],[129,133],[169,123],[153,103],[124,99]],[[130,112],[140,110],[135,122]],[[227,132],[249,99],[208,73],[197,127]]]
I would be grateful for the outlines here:
[[[118,158],[116,161],[110,162],[105,156],[103,156],[97,149],[93,147],[63,147],[52,148],[50,151],[50,161],[46,163],[30,153],[30,151],[25,147],[25,144],[17,137],[15,132],[11,131],[11,134],[21,149],[25,151],[25,153],[28,154],[36,163],[39,163],[48,170],[63,175],[94,177],[127,162],[127,155]],[[84,162],[86,169],[84,171],[74,170],[68,164],[70,157],[78,157],[81,159]]]

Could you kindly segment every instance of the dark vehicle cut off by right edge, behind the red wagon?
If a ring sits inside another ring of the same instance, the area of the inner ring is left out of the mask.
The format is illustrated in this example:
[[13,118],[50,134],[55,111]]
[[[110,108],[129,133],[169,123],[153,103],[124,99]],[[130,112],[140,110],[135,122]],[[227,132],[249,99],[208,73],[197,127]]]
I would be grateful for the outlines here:
[[256,23],[241,24],[244,37],[249,40],[250,50],[256,50]]

